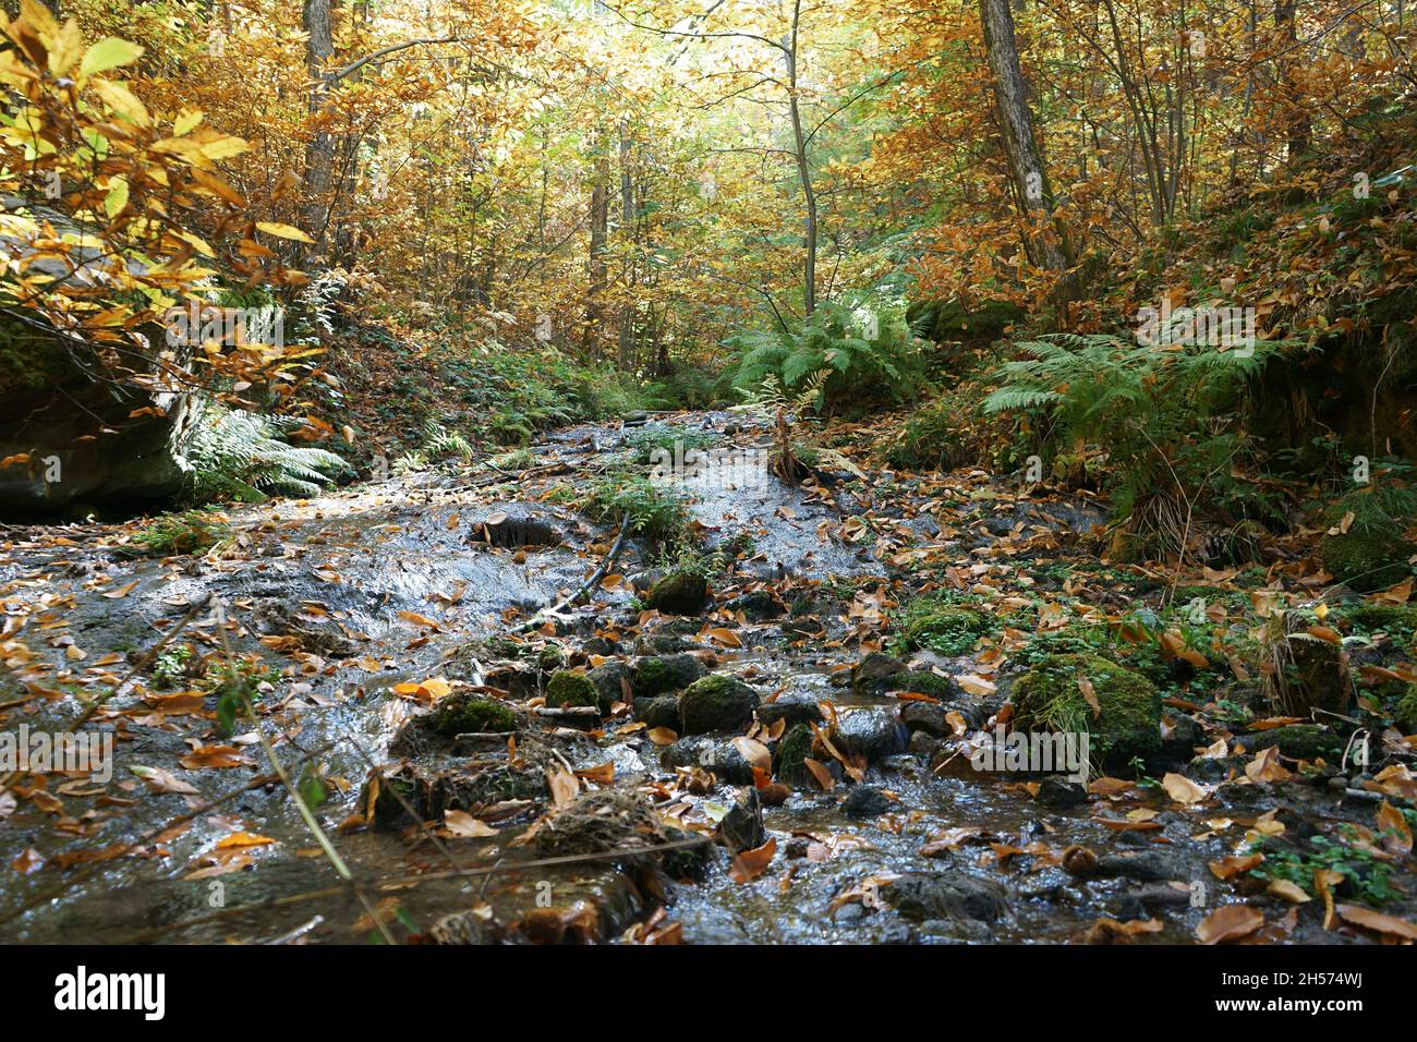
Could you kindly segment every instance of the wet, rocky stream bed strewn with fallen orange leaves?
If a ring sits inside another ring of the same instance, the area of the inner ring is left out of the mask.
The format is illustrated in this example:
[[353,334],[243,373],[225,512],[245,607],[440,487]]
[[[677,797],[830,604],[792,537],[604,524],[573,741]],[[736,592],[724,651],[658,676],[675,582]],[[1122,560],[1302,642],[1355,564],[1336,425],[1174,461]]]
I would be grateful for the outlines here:
[[[771,439],[738,414],[656,418],[670,421],[721,445]],[[21,774],[0,792],[0,937],[1342,943],[1413,929],[1410,827],[1390,807],[1417,795],[1410,746],[1374,746],[1367,764],[1264,751],[1306,722],[1237,706],[1193,655],[1165,665],[1163,741],[1145,761],[1076,784],[971,758],[1007,720],[1039,634],[1155,615],[1197,588],[1209,622],[1243,628],[1282,576],[1108,564],[1105,505],[981,469],[820,472],[693,489],[704,553],[726,553],[707,603],[669,614],[646,593],[666,563],[633,539],[615,553],[615,523],[568,506],[629,462],[635,430],[555,431],[517,475],[425,471],[232,508],[225,542],[198,554],[136,553],[137,523],[6,530],[0,719],[98,729],[115,747],[108,778]],[[843,452],[874,439],[859,431]],[[587,603],[537,617],[608,559]],[[986,605],[972,646],[891,642],[927,591]],[[1382,634],[1355,654],[1407,669]],[[225,727],[232,663],[255,713],[237,703]],[[546,712],[563,668],[588,672],[604,716]],[[744,715],[726,685],[710,700],[721,726],[680,736],[673,692],[708,673],[758,705]],[[439,733],[441,709],[469,695],[512,716]],[[809,770],[784,770],[799,723]],[[1357,851],[1343,863],[1299,846],[1336,832]],[[1264,876],[1255,842],[1292,870]]]

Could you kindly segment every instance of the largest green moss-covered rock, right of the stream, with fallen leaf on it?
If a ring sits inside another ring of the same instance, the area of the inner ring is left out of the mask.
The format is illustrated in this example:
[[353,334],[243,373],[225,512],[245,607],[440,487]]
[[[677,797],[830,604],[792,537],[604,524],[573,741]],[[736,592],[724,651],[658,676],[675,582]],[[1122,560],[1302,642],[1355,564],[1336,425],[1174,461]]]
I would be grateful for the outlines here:
[[[1078,688],[1085,676],[1101,713]],[[1151,680],[1098,655],[1050,655],[1013,685],[1015,724],[1023,730],[1087,732],[1104,767],[1161,751],[1161,692]]]

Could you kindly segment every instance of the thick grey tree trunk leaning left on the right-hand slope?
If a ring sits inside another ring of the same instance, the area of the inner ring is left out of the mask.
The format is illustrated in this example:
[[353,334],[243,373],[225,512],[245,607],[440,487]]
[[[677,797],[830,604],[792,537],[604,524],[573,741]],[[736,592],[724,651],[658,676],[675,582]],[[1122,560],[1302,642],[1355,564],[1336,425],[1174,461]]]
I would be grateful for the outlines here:
[[1029,111],[1023,69],[1019,65],[1019,45],[1013,35],[1009,0],[979,0],[979,16],[983,21],[989,68],[993,72],[995,108],[1009,159],[1009,176],[1019,206],[1030,221],[1051,224],[1057,235],[1054,240],[1047,231],[1040,230],[1032,237],[1032,252],[1034,261],[1043,267],[1064,271],[1076,258],[1067,227],[1053,211],[1053,191],[1043,162],[1043,149],[1033,130],[1033,113]]

